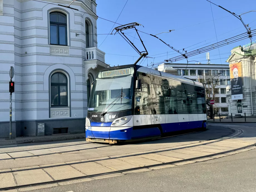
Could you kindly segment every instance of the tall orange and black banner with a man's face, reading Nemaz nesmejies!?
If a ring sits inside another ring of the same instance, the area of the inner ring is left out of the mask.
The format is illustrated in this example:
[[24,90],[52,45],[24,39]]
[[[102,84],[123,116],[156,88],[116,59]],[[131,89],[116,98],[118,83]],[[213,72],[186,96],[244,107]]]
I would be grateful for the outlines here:
[[232,100],[243,99],[241,63],[233,63],[229,67]]

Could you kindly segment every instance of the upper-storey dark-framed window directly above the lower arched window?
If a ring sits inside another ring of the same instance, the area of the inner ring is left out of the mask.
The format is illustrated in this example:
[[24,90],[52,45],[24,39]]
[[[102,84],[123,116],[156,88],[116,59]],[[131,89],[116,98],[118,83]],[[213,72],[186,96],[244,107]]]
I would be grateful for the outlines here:
[[63,13],[50,13],[50,44],[67,45],[67,16]]

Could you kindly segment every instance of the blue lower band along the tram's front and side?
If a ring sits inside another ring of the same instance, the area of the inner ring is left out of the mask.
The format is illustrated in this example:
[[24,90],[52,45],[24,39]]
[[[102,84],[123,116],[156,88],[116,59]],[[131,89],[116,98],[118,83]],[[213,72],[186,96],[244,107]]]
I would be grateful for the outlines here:
[[[206,128],[205,121],[191,121],[191,122],[179,122],[179,123],[167,123],[160,124],[163,133],[183,131],[195,128]],[[110,127],[106,127],[106,131],[93,131],[86,130],[87,138],[97,139],[112,139],[112,140],[132,140],[146,137],[161,136],[161,131],[158,127],[138,129],[137,127],[124,127],[124,129],[111,131]]]

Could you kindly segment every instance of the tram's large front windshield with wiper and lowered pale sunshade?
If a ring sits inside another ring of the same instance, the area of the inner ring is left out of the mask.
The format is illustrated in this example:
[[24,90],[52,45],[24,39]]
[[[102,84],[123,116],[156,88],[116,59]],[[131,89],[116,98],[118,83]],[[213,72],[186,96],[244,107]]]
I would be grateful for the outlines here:
[[110,113],[132,109],[132,82],[133,75],[96,79],[88,111],[99,113],[105,110],[104,113]]

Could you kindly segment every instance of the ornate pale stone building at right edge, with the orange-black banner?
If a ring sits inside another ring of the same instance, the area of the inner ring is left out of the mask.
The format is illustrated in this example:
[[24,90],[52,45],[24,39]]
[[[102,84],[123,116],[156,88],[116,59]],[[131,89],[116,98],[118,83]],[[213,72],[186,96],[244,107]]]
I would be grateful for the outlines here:
[[[248,50],[250,48],[250,50]],[[256,115],[256,77],[255,77],[255,56],[256,56],[256,44],[252,42],[252,45],[245,45],[243,47],[237,46],[231,50],[231,55],[227,62],[231,66],[238,66],[238,75],[241,77],[240,86],[242,89],[242,98],[234,98],[232,100],[231,89],[227,92],[229,115],[246,113],[248,116]],[[230,68],[232,73],[232,67]]]

